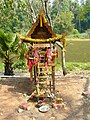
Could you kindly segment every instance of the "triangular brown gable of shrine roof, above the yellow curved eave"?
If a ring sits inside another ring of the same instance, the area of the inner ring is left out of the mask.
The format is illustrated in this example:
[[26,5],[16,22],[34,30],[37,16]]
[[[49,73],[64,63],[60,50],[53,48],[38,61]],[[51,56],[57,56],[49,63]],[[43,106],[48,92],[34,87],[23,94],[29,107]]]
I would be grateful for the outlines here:
[[56,34],[53,32],[52,28],[48,25],[44,15],[39,14],[36,22],[26,35],[33,39],[48,39],[56,37]]

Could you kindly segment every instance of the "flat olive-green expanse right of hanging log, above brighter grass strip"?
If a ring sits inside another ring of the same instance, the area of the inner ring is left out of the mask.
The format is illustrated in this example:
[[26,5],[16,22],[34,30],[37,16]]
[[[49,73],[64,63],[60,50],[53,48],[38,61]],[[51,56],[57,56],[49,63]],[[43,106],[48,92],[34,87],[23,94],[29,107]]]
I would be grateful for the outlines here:
[[67,62],[90,62],[90,40],[67,41]]

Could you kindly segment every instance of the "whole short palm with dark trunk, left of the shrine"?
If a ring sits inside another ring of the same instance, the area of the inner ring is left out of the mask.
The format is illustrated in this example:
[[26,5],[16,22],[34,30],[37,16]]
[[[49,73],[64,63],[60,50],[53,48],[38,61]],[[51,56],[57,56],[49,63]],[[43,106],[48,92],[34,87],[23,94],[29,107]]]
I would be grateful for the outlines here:
[[4,63],[4,74],[13,75],[13,59],[16,57],[18,52],[18,40],[15,34],[13,33],[4,33],[3,30],[0,30],[0,57]]

